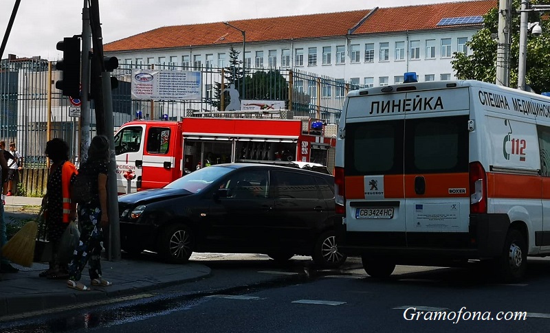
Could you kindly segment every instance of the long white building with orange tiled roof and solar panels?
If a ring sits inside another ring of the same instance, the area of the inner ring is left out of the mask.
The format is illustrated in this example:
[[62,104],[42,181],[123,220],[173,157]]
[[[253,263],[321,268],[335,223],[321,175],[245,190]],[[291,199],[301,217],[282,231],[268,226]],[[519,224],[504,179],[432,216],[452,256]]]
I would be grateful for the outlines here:
[[497,0],[457,1],[230,21],[233,27],[176,25],[107,43],[104,51],[155,68],[227,67],[230,47],[243,49],[243,31],[247,68],[300,69],[365,87],[401,83],[409,71],[420,81],[452,80],[452,55],[469,51],[465,43],[497,7]]

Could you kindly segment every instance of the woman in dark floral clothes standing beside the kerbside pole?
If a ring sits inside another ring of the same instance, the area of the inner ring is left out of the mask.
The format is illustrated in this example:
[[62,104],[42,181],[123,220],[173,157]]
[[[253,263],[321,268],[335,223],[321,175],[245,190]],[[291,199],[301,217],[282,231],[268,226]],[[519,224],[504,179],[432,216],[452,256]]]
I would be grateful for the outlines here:
[[109,227],[107,217],[107,165],[109,164],[109,139],[98,135],[91,139],[88,159],[80,165],[78,173],[84,172],[91,184],[91,199],[78,204],[80,242],[69,264],[67,286],[80,291],[91,290],[80,282],[86,263],[92,286],[111,286],[101,277],[100,255],[103,249],[103,228]]

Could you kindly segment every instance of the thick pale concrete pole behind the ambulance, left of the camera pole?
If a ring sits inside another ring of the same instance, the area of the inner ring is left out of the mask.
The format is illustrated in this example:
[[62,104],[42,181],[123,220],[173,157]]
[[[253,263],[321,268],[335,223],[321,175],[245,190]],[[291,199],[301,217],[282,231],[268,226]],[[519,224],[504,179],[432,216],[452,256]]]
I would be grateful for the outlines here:
[[510,2],[498,3],[498,46],[496,48],[496,84],[509,86],[510,81]]

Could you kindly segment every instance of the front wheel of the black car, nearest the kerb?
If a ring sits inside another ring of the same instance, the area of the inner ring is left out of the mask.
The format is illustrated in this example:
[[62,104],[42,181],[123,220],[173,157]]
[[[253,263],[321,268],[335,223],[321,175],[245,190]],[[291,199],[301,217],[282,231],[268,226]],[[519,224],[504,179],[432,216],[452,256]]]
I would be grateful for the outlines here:
[[192,242],[191,229],[184,224],[175,223],[161,231],[157,249],[166,262],[184,264],[192,254]]

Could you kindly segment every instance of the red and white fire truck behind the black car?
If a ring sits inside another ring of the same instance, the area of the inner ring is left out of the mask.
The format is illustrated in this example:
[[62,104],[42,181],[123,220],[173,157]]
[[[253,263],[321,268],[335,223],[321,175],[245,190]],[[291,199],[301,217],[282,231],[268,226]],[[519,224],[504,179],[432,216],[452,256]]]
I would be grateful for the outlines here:
[[336,125],[281,115],[229,111],[200,113],[179,122],[127,122],[115,134],[118,192],[128,191],[124,174],[129,170],[135,175],[130,192],[164,187],[197,168],[219,163],[302,161],[332,170]]

